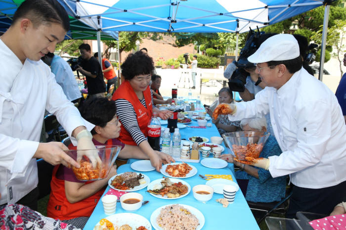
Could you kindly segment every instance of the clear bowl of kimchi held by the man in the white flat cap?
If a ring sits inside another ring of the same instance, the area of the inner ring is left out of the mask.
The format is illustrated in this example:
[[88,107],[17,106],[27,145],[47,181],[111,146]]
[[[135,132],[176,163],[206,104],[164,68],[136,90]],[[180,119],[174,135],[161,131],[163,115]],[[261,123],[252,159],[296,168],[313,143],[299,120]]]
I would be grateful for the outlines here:
[[237,131],[224,133],[222,137],[237,160],[252,161],[259,158],[269,135],[269,132],[264,131]]

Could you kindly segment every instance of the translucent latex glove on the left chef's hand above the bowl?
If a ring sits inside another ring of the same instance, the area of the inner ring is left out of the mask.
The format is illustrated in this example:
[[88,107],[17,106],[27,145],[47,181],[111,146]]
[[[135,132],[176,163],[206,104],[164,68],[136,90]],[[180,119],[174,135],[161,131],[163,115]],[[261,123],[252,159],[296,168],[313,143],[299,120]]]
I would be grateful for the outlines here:
[[92,168],[96,168],[97,164],[101,165],[102,162],[98,156],[98,151],[96,150],[94,143],[92,143],[91,133],[87,130],[82,130],[77,134],[76,139],[78,141],[77,150],[88,150],[77,151],[77,162],[80,163],[83,155],[86,155],[91,161]]

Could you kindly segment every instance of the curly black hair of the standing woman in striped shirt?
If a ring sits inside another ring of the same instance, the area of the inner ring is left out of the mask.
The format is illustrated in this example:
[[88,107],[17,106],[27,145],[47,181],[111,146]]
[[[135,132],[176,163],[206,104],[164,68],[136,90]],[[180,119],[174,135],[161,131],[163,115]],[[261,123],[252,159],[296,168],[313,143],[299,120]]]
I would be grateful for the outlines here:
[[154,69],[153,59],[142,51],[129,54],[121,65],[122,74],[126,80],[142,74],[150,74]]

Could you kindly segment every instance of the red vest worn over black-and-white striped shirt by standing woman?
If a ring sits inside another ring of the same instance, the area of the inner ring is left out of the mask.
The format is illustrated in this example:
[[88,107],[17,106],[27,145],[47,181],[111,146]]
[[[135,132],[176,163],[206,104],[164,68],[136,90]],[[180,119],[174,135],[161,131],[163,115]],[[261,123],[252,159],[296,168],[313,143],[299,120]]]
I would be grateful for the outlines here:
[[[114,92],[112,100],[117,99],[126,99],[128,100],[136,112],[137,115],[137,123],[139,126],[140,131],[143,132],[145,137],[147,136],[147,129],[148,129],[148,123],[151,119],[151,115],[153,113],[153,104],[151,100],[151,93],[150,93],[150,87],[148,86],[146,90],[143,91],[145,104],[147,108],[145,108],[142,103],[140,103],[137,95],[134,93],[130,82],[128,80],[125,80],[124,83],[122,83],[119,88]],[[124,128],[124,126],[121,126],[121,131],[118,139],[123,142],[124,144],[128,145],[136,145],[136,142],[134,142],[131,134]]]

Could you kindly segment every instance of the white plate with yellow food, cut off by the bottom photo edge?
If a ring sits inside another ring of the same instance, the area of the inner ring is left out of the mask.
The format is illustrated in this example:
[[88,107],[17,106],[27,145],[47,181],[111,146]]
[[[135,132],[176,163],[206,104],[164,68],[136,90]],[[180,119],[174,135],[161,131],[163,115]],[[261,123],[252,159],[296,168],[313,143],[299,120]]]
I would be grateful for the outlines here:
[[141,215],[135,213],[117,213],[101,219],[93,230],[108,229],[151,230],[151,225],[150,222]]

